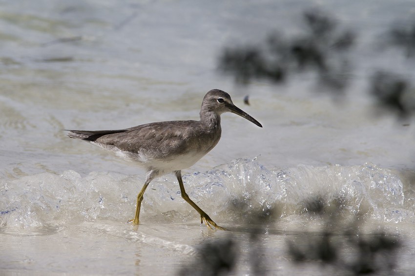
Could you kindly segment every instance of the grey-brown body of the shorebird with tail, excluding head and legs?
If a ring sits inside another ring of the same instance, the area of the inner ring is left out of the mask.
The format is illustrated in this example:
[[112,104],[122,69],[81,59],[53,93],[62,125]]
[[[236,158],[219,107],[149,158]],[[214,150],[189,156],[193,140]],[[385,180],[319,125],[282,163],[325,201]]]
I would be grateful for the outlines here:
[[91,141],[147,169],[186,169],[205,156],[219,141],[221,128],[200,121],[165,121],[123,130],[76,131],[71,138]]

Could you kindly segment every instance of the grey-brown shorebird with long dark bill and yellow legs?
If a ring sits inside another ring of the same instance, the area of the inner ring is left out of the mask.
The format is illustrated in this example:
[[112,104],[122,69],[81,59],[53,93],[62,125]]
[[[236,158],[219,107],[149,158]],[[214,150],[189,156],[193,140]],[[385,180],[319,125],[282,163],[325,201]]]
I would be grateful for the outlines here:
[[232,112],[248,119],[259,127],[262,125],[246,112],[236,107],[228,93],[213,89],[203,98],[200,120],[165,121],[148,123],[120,130],[67,130],[70,138],[89,141],[115,152],[117,156],[138,162],[147,170],[147,177],[137,196],[134,219],[128,222],[139,224],[140,207],[148,184],[155,177],[173,172],[179,181],[183,197],[199,214],[201,223],[207,227],[226,230],[218,226],[186,194],[182,170],[187,169],[205,156],[221,138],[221,114]]

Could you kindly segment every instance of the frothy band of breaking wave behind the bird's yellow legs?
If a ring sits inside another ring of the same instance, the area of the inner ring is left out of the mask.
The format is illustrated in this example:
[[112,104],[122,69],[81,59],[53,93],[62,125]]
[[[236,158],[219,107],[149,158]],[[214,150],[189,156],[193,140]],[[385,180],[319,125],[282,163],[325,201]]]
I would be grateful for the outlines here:
[[[109,219],[125,222],[135,210],[145,176],[75,171],[1,179],[0,226],[5,232],[58,229],[67,223]],[[257,160],[238,159],[201,173],[184,176],[188,195],[216,220],[239,219],[246,212],[277,206],[283,217],[301,214],[304,203],[320,196],[325,203],[341,198],[343,208],[381,222],[414,220],[409,187],[393,171],[361,166],[299,165],[270,171]],[[247,203],[235,212],[235,200]],[[168,213],[174,211],[173,213]],[[162,215],[164,214],[165,215]],[[141,219],[195,219],[181,198],[174,176],[155,179],[145,193]]]

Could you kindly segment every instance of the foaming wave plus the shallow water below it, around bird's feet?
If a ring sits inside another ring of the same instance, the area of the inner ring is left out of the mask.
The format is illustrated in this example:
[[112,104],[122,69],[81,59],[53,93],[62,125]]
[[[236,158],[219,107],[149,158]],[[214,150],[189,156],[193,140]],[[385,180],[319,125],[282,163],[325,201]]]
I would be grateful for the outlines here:
[[178,273],[192,267],[204,244],[230,237],[238,250],[235,275],[255,274],[251,254],[258,249],[250,229],[256,229],[257,212],[273,210],[257,237],[264,256],[261,268],[271,275],[330,273],[333,268],[312,263],[297,267],[287,255],[287,243],[304,237],[304,229],[314,237],[324,228],[324,220],[312,219],[304,209],[305,202],[317,195],[329,205],[341,198],[341,221],[358,217],[365,222],[359,227],[361,234],[398,235],[404,246],[394,271],[406,275],[412,271],[408,260],[414,257],[413,191],[408,176],[394,171],[373,164],[269,171],[257,160],[238,159],[206,173],[185,175],[189,196],[229,231],[200,225],[196,211],[180,197],[173,176],[151,183],[141,224],[127,224],[142,180],[107,172],[82,177],[75,171],[3,180],[0,238],[10,249],[1,253],[3,271]]

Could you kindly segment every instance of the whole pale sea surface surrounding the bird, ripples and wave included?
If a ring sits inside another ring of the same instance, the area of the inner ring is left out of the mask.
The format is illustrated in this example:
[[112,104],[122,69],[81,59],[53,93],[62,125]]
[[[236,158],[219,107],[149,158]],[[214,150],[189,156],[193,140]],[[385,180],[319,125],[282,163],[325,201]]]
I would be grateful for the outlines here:
[[[242,86],[218,70],[226,47],[301,33],[310,9],[357,35],[344,96],[319,91],[312,74]],[[413,275],[415,124],[367,91],[377,69],[414,80],[413,60],[376,47],[414,16],[405,0],[1,0],[0,275],[209,275],[201,252],[221,243],[229,251],[208,255],[236,252],[231,275],[337,274],[290,254],[332,222],[312,200],[339,209],[335,237],[399,240],[392,270],[375,275]],[[263,125],[223,114],[219,144],[182,172],[189,197],[229,231],[200,224],[173,175],[151,182],[141,224],[127,224],[145,171],[62,130],[198,119],[214,88]]]

